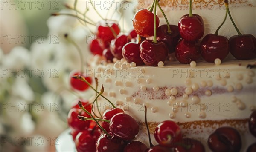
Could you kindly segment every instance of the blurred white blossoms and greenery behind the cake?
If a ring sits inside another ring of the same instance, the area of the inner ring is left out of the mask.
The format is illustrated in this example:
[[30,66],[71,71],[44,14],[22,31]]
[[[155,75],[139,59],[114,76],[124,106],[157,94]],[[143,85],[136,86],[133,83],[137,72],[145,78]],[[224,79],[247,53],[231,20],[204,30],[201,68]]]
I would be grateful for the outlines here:
[[[77,9],[94,22],[100,20],[89,0],[80,0]],[[127,9],[97,8],[106,18],[131,18],[134,5]],[[82,25],[70,16],[51,17],[54,12],[75,14],[65,9],[74,0],[0,0],[0,137],[1,152],[55,151],[58,135],[67,129],[67,113],[79,98],[89,99],[92,92],[77,92],[69,84],[70,72],[79,70],[81,62],[76,48],[64,34],[69,34],[90,57],[88,37],[93,26]],[[111,2],[111,1],[108,1]],[[122,0],[118,1],[121,3]],[[106,6],[106,7],[104,7]],[[122,13],[124,11],[126,13]],[[125,16],[126,15],[126,16]],[[120,23],[124,32],[131,20]],[[86,66],[83,64],[83,66]],[[55,144],[56,142],[56,144]]]

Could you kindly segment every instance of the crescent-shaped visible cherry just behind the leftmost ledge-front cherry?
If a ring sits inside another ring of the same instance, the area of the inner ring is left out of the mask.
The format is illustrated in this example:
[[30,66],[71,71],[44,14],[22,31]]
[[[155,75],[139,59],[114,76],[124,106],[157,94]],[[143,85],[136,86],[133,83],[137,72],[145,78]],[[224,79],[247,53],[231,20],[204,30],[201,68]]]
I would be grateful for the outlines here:
[[122,48],[129,41],[127,35],[120,35],[111,41],[110,51],[118,60],[122,59]]

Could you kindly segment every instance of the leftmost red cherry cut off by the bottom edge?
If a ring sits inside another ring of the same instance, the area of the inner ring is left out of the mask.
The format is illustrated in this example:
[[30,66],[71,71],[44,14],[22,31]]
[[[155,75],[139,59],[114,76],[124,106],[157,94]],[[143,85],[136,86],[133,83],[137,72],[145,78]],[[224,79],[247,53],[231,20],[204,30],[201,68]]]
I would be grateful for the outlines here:
[[79,132],[75,139],[77,152],[96,152],[96,141],[101,135],[99,130],[84,130]]

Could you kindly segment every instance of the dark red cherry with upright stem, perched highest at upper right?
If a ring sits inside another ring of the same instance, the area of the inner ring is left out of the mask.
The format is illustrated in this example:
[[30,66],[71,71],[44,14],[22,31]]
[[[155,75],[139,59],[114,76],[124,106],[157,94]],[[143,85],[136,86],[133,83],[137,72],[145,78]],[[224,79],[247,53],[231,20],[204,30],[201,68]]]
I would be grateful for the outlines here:
[[204,35],[204,20],[201,16],[189,14],[180,18],[179,24],[180,36],[187,41],[199,40]]

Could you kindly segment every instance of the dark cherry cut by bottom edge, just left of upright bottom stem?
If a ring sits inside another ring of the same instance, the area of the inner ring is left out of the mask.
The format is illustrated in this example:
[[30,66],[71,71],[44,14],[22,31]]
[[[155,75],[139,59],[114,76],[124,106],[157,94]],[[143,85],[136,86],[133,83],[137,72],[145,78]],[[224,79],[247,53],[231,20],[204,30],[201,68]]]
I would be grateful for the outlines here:
[[145,152],[147,146],[140,141],[132,141],[125,146],[124,152]]

